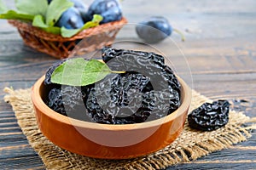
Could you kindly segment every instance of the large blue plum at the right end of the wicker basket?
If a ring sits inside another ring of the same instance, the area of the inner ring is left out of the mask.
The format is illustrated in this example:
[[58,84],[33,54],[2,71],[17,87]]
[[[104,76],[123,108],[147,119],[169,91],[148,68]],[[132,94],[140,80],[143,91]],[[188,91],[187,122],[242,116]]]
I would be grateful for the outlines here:
[[101,24],[122,19],[122,11],[117,0],[95,0],[91,3],[85,20],[91,20],[94,14],[101,14]]

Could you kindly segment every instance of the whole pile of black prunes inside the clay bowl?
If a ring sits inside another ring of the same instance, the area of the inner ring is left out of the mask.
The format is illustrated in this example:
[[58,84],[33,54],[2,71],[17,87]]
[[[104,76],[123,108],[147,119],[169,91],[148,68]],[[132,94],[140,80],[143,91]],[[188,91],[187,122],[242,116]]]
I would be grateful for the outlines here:
[[[102,48],[102,59],[111,70],[125,73],[108,74],[84,87],[64,86],[50,81],[55,68],[65,62],[60,61],[46,72],[44,102],[62,115],[105,124],[152,121],[171,114],[181,104],[180,83],[163,56]],[[74,115],[78,112],[79,116]]]

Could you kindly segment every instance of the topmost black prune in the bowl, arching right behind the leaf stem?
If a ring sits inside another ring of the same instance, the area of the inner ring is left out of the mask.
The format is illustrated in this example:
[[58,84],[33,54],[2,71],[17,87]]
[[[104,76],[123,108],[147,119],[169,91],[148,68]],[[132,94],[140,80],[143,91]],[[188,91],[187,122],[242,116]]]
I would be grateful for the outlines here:
[[[115,48],[102,48],[102,59],[113,71],[137,71],[152,80],[154,90],[166,89],[167,83],[180,89],[177,77],[159,54]],[[154,80],[154,81],[153,81]]]

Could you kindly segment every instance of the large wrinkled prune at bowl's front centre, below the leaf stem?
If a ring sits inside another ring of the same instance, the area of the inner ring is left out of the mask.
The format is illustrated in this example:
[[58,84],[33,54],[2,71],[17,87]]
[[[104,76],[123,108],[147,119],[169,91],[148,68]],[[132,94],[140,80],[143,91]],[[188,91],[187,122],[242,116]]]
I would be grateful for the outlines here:
[[141,113],[139,118],[131,115],[140,109],[143,92],[150,90],[150,87],[148,77],[137,72],[112,74],[90,88],[90,94],[84,103],[96,122],[142,122],[139,118],[143,117],[144,113]]

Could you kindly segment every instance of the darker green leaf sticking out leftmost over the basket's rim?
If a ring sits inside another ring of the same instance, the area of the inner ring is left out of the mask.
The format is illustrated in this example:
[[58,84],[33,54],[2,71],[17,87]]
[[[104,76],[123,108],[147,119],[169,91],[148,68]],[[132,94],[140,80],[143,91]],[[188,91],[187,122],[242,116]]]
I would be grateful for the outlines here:
[[34,15],[31,14],[19,14],[14,10],[9,10],[5,14],[0,14],[0,19],[7,19],[7,20],[28,20],[32,21]]

